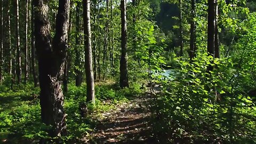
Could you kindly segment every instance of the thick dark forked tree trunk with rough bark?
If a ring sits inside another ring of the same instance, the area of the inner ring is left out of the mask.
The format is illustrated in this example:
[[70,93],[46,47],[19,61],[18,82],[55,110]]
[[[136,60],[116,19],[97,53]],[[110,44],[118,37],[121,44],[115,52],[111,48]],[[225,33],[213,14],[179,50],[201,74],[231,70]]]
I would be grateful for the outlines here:
[[61,85],[68,49],[70,1],[59,0],[52,45],[47,2],[35,0],[35,39],[41,89],[41,117],[43,123],[53,126],[52,137],[57,137],[67,133]]

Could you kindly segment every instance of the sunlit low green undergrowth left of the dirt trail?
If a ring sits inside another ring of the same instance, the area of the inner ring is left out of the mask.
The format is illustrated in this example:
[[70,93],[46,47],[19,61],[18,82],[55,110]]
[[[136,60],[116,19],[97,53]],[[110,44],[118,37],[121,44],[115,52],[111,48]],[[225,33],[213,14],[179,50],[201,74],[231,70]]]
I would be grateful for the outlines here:
[[[77,141],[90,132],[101,118],[100,114],[115,109],[117,103],[128,101],[128,97],[139,95],[142,91],[139,85],[132,88],[118,89],[114,82],[98,83],[95,86],[96,102],[89,105],[89,116],[79,115],[79,103],[86,100],[86,85],[76,87],[69,84],[65,94],[65,110],[67,113],[68,135],[63,141]],[[1,142],[27,143],[28,141],[49,138],[49,126],[41,123],[39,88],[32,84],[15,86],[10,90],[0,86],[0,140]]]

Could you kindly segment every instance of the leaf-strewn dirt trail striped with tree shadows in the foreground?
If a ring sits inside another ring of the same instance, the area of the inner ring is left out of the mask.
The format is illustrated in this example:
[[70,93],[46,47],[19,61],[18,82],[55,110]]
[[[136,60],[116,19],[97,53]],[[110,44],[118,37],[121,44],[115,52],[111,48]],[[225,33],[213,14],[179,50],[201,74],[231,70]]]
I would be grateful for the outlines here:
[[85,143],[155,143],[150,137],[149,97],[137,97],[103,113],[106,117]]

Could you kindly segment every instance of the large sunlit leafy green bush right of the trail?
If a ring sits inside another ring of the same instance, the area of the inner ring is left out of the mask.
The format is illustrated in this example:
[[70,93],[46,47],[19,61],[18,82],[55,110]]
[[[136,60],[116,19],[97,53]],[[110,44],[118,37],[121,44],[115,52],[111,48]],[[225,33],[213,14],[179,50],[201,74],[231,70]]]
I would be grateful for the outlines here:
[[190,137],[195,143],[255,142],[256,108],[244,86],[248,75],[238,72],[230,59],[212,63],[206,54],[191,63],[177,62],[179,72],[162,81],[155,130],[169,139]]

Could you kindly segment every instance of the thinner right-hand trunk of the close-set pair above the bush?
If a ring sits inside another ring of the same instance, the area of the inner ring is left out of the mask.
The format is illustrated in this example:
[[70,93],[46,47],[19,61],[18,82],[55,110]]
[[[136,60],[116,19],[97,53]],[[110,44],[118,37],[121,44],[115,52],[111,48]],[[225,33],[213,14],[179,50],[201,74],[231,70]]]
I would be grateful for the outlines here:
[[218,0],[215,0],[215,58],[220,58],[220,40],[219,40],[219,30],[218,30]]

